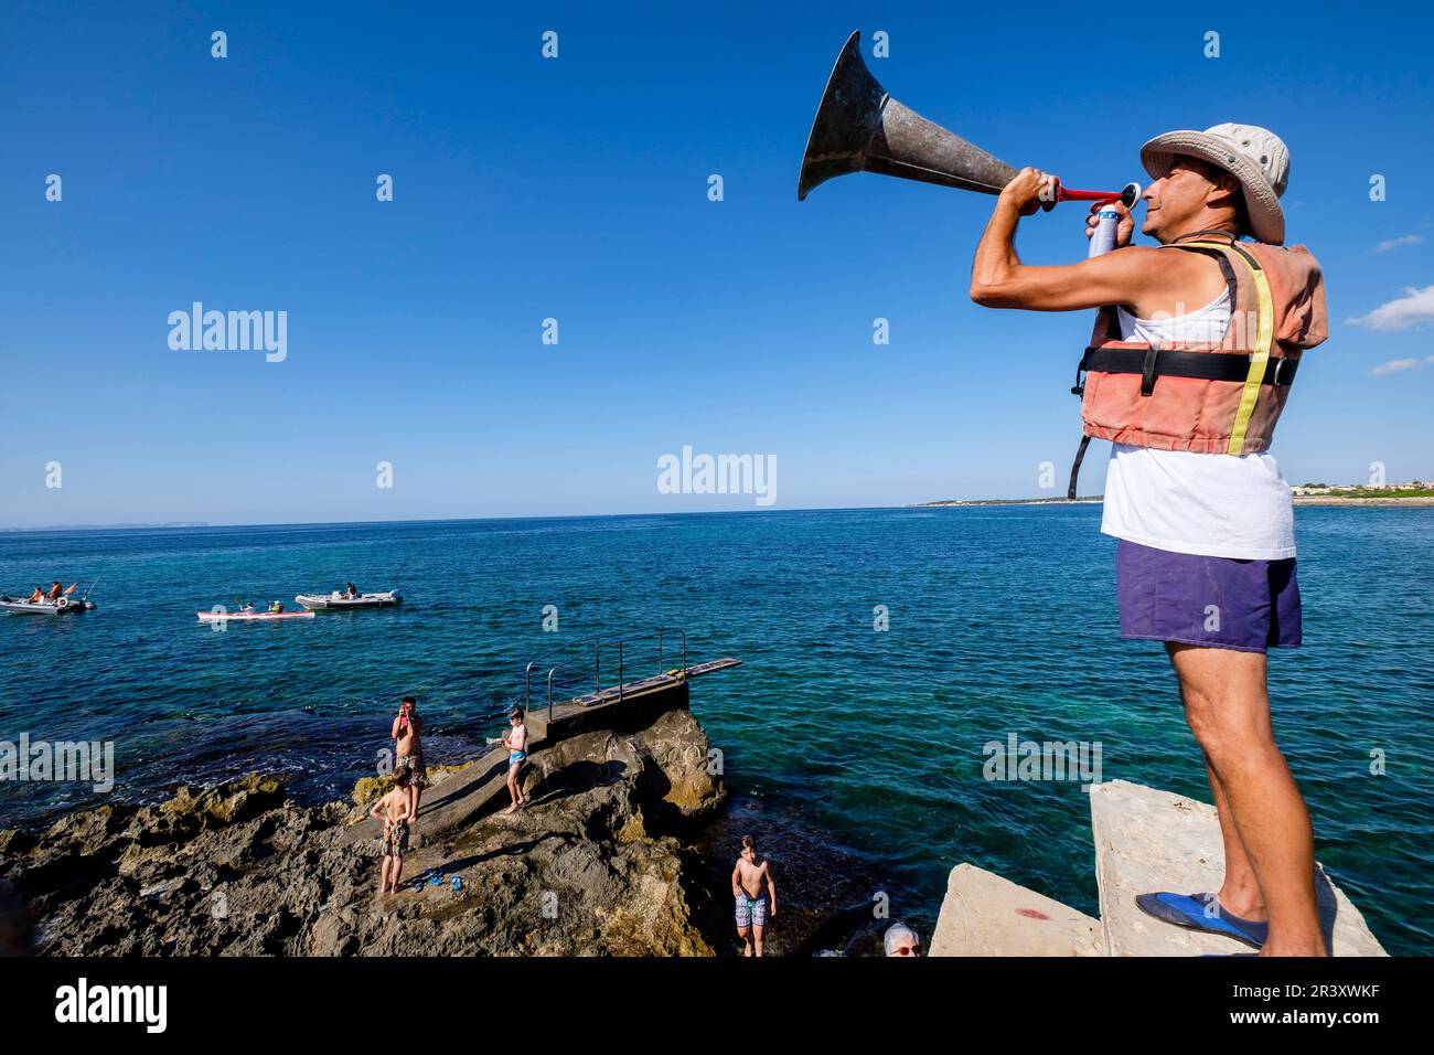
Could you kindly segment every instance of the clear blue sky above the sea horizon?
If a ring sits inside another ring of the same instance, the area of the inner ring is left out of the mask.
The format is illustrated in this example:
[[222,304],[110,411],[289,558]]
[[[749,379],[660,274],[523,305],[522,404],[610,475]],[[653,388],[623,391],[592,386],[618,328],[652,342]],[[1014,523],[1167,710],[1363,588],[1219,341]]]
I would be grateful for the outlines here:
[[[1162,131],[1273,128],[1331,313],[1275,454],[1292,482],[1434,477],[1434,19],[998,7],[7,4],[0,525],[754,508],[660,494],[684,445],[774,455],[777,508],[1050,494],[1090,316],[969,303],[992,200],[796,201],[853,29],[889,34],[896,98],[1074,187],[1146,182]],[[1074,260],[1081,228],[1065,205],[1018,248]],[[287,311],[288,357],[171,350],[195,300]]]

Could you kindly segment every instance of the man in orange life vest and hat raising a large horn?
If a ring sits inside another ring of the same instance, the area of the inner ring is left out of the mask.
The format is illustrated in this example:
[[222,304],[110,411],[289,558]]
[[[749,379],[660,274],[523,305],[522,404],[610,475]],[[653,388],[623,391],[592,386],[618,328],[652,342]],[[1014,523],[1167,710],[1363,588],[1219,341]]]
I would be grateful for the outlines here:
[[1120,630],[1166,644],[1225,841],[1219,891],[1150,891],[1140,907],[1265,956],[1324,956],[1309,814],[1266,689],[1266,649],[1301,640],[1291,489],[1268,448],[1301,352],[1326,336],[1324,284],[1304,247],[1281,248],[1279,136],[1167,132],[1141,161],[1154,179],[1141,233],[1160,245],[1130,245],[1134,221],[1116,202],[1093,208],[1120,214],[1113,253],[1022,264],[1020,218],[1057,200],[1051,177],[1024,168],[977,247],[971,299],[1100,309],[1074,390],[1081,452],[1113,441],[1101,531],[1120,540]]

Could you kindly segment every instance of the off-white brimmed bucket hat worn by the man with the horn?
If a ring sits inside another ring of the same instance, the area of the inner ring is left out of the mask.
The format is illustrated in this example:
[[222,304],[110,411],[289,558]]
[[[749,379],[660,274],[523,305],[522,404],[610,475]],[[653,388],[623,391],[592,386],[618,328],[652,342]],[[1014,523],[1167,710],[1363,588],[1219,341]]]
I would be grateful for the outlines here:
[[1279,195],[1289,182],[1285,141],[1258,125],[1226,122],[1203,132],[1166,132],[1140,148],[1140,161],[1153,179],[1170,172],[1176,158],[1200,158],[1240,181],[1250,233],[1269,245],[1285,241],[1285,211]]

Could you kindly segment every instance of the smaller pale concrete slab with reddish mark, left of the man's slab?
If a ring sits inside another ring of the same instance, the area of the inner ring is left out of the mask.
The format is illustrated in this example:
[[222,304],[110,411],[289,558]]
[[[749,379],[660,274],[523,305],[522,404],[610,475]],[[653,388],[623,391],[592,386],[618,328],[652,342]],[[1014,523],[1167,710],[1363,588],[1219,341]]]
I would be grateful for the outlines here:
[[974,864],[958,864],[932,956],[1104,956],[1100,922]]

